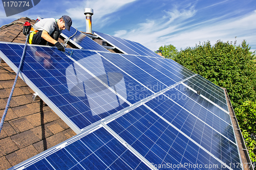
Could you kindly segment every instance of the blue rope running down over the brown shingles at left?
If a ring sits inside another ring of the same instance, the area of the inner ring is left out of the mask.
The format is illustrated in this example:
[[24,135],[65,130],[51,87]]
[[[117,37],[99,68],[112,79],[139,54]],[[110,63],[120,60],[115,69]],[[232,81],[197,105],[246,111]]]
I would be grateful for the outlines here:
[[8,98],[8,101],[7,101],[7,104],[6,104],[3,117],[2,117],[2,119],[1,119],[1,123],[0,123],[0,133],[1,133],[2,129],[3,129],[3,125],[4,125],[4,122],[5,122],[6,113],[7,113],[7,111],[8,111],[8,108],[9,108],[9,105],[10,105],[10,102],[11,102],[11,99],[12,99],[12,94],[13,94],[13,91],[14,91],[14,88],[15,88],[15,85],[16,85],[16,82],[17,82],[17,79],[18,79],[18,74],[19,74],[20,67],[22,66],[22,61],[23,61],[23,58],[24,58],[24,56],[25,56],[27,41],[28,41],[28,36],[27,36],[27,38],[26,38],[25,46],[24,46],[24,49],[23,49],[22,59],[20,59],[20,62],[19,62],[17,75],[16,75],[16,78],[15,78],[14,83],[13,83],[13,85],[12,85],[12,90],[11,90],[11,93],[10,93],[10,95],[9,95],[9,98]]

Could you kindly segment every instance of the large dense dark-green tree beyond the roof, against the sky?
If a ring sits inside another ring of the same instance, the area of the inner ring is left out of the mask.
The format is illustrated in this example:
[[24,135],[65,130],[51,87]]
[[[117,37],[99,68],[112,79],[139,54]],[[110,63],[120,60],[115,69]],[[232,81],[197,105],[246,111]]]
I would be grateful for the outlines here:
[[255,54],[244,40],[241,45],[217,41],[187,47],[173,59],[212,83],[224,87],[234,108],[256,99]]

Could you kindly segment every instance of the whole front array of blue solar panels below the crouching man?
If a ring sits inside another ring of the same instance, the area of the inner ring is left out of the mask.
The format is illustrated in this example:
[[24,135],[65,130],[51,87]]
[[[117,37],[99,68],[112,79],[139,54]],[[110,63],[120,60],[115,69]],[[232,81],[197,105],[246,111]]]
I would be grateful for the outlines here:
[[[0,57],[15,71],[23,47],[0,43]],[[29,45],[20,74],[81,133],[13,169],[233,169],[241,163],[220,87],[173,60],[71,50],[72,58]]]

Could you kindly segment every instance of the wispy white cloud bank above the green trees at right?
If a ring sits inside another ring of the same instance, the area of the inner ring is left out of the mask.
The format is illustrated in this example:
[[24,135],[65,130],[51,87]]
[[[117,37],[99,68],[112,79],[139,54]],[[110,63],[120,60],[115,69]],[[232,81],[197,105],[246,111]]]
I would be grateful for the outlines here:
[[[252,50],[256,49],[256,22],[253,22],[256,18],[256,10],[246,16],[231,19],[224,19],[225,16],[210,18],[208,21],[190,26],[185,25],[185,22],[188,18],[193,19],[197,12],[194,8],[165,12],[166,15],[158,20],[146,20],[146,22],[138,24],[136,29],[121,30],[121,33],[126,32],[125,34],[120,34],[120,31],[117,31],[114,36],[140,42],[153,51],[164,44],[173,44],[180,50],[187,46],[195,46],[199,41],[210,40],[211,44],[215,44],[219,39],[234,41],[236,36],[237,44],[246,39],[247,43],[252,46]],[[168,20],[166,21],[166,19]],[[212,22],[213,20],[216,22]]]

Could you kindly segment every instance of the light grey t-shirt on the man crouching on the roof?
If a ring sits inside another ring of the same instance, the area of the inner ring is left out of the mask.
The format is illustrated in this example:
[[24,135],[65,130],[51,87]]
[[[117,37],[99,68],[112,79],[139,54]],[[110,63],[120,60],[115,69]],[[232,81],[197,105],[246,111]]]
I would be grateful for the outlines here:
[[[51,35],[55,30],[55,28],[58,29],[57,21],[58,19],[54,19],[54,18],[41,19],[33,26],[33,28],[38,31],[45,30],[49,33],[49,35]],[[59,33],[61,32],[62,30],[59,30]]]

